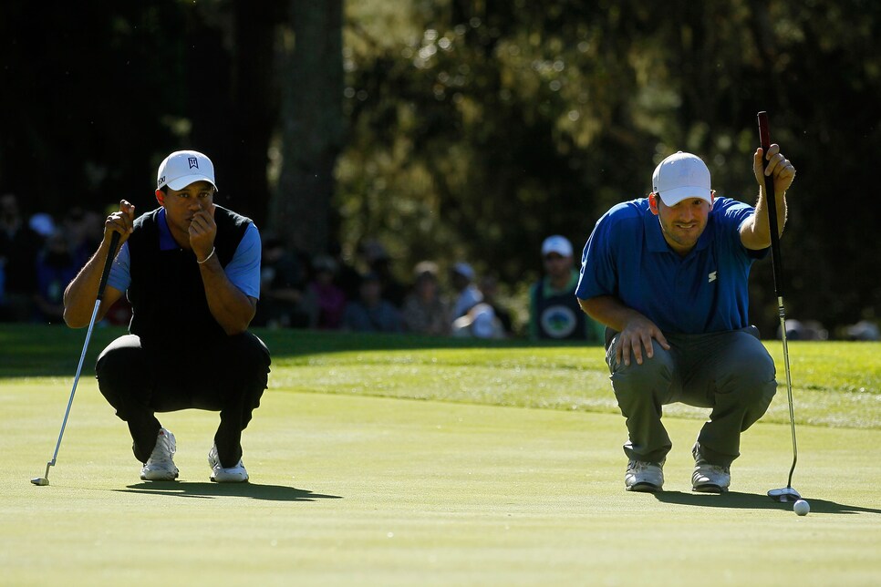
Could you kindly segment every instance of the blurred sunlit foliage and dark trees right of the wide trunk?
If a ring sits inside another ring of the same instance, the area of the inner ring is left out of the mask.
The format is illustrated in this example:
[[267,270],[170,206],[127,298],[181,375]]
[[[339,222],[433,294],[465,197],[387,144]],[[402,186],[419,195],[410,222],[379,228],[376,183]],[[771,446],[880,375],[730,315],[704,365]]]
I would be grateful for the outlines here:
[[[869,184],[872,166],[856,154],[879,147],[868,108],[881,89],[878,10],[452,0],[418,3],[411,32],[391,38],[358,13],[347,28],[343,232],[390,242],[405,264],[462,257],[516,283],[536,275],[546,235],[583,244],[676,150],[708,161],[720,195],[754,201],[756,112],[768,110],[798,169],[783,239],[789,314],[830,326],[877,318],[879,280],[861,277],[881,269],[866,254],[878,249],[865,239],[872,215],[840,192]],[[752,280],[767,335],[770,272],[760,263]]]

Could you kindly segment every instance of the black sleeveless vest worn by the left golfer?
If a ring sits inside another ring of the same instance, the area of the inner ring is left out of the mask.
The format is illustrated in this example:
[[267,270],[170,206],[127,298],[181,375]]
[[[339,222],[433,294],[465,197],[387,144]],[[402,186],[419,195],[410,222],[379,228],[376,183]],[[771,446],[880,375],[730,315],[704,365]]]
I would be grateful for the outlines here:
[[[208,309],[205,286],[196,256],[175,247],[160,250],[159,211],[147,212],[134,221],[129,237],[131,303],[129,332],[142,339],[181,345],[225,336]],[[225,267],[242,241],[251,220],[215,206],[217,236],[214,249]]]

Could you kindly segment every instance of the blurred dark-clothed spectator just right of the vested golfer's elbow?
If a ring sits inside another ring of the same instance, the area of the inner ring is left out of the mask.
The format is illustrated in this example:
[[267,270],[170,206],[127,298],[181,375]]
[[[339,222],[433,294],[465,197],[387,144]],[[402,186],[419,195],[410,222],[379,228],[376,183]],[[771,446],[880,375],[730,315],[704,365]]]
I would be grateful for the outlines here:
[[288,251],[280,239],[267,238],[260,269],[260,304],[253,324],[314,328],[318,305],[307,284],[307,267],[300,256]]

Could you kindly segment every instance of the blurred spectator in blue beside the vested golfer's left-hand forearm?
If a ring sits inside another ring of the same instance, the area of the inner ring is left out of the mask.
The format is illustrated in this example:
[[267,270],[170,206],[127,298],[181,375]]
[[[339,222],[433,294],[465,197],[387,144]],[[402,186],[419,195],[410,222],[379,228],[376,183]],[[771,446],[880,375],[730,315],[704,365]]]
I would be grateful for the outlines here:
[[70,251],[67,234],[53,232],[36,257],[36,310],[43,322],[58,323],[64,319],[64,290],[77,276],[80,263]]

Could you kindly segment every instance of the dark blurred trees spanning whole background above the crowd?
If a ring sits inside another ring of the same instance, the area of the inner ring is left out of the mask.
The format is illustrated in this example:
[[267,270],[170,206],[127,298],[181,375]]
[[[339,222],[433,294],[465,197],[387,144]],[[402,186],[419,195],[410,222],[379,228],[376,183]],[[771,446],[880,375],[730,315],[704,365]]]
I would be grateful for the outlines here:
[[[464,259],[523,287],[545,236],[580,246],[675,150],[707,160],[720,195],[753,201],[768,110],[798,169],[788,314],[830,327],[881,314],[865,193],[881,5],[339,2],[4,3],[0,191],[57,215],[123,197],[148,210],[162,157],[201,149],[220,203],[307,252],[378,238],[402,277]],[[751,290],[766,335],[770,265]]]

